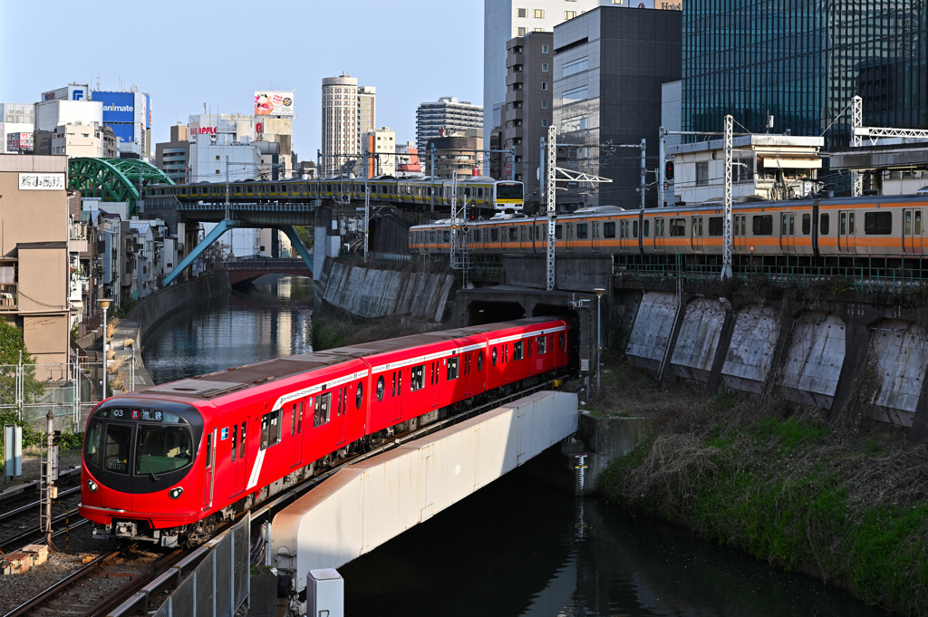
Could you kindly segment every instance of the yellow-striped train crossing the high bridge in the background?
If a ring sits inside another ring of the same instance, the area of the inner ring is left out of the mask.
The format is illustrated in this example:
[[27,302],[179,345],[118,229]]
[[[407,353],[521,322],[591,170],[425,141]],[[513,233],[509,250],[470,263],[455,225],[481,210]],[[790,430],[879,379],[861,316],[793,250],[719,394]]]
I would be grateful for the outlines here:
[[[429,210],[432,206],[451,207],[450,180],[394,178],[383,175],[367,181],[370,199],[387,201],[404,210]],[[478,211],[521,213],[524,205],[521,182],[494,180],[479,175],[458,180],[458,199],[467,199],[468,208]],[[174,197],[181,201],[221,201],[226,199],[225,183],[198,182],[190,185],[154,185],[145,188],[147,197]],[[364,200],[364,178],[324,178],[322,180],[237,180],[229,184],[229,198],[236,201],[274,202],[280,200],[331,199]]]

